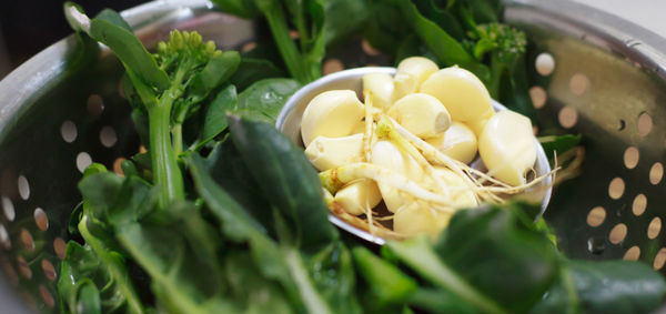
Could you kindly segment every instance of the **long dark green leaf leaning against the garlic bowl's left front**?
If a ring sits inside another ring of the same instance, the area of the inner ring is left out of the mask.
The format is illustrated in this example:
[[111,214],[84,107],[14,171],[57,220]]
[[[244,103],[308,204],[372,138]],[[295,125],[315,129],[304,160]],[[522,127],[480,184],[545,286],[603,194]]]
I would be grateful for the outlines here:
[[271,204],[287,220],[304,249],[321,247],[337,234],[327,219],[322,185],[303,154],[272,124],[248,117],[226,117],[231,138]]

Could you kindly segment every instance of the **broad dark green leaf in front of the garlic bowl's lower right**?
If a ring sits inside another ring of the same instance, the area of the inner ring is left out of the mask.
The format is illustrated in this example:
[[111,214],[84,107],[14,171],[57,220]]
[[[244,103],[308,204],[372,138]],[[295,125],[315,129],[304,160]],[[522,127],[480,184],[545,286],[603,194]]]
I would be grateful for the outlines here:
[[461,211],[437,246],[446,265],[509,312],[536,304],[559,270],[556,249],[524,207]]

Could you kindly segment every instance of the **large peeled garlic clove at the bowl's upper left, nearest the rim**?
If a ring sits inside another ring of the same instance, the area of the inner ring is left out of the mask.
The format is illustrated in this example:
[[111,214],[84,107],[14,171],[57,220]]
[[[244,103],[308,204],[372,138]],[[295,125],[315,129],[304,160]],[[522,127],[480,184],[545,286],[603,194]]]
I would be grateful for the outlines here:
[[325,91],[312,99],[303,112],[301,122],[303,143],[307,146],[320,135],[346,136],[364,114],[363,104],[354,91]]

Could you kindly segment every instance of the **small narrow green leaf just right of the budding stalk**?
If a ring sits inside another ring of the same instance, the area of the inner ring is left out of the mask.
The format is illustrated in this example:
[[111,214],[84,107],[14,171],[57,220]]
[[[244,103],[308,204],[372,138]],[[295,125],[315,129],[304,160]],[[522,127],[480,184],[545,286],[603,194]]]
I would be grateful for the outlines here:
[[201,143],[205,144],[222,131],[226,130],[226,111],[238,105],[236,89],[234,85],[226,85],[213,99],[208,108],[205,120],[203,122],[203,135]]

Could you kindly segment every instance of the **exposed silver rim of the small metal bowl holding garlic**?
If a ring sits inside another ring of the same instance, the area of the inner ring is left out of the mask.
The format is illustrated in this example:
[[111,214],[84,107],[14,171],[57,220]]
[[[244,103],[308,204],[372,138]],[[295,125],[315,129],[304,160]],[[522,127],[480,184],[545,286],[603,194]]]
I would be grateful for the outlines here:
[[[305,108],[310,103],[310,101],[315,98],[317,94],[324,91],[331,90],[352,90],[356,92],[356,95],[362,99],[363,94],[363,75],[370,73],[386,73],[390,75],[395,74],[395,68],[387,67],[365,67],[365,68],[356,68],[351,70],[340,71],[333,74],[329,74],[323,77],[310,84],[306,84],[302,89],[300,89],[296,93],[294,93],[284,104],[280,115],[278,117],[278,121],[275,122],[275,128],[282,131],[289,139],[291,139],[294,143],[300,143],[302,146],[301,140],[301,119],[303,117],[303,112]],[[495,111],[506,110],[504,105],[501,103],[493,101],[493,108]],[[534,165],[534,170],[537,176],[544,175],[551,172],[551,165],[548,164],[548,159],[543,150],[543,148],[538,144],[535,139],[535,145],[537,149],[537,160]],[[478,158],[477,158],[478,160]],[[473,163],[476,163],[473,162]],[[525,192],[526,195],[522,195],[524,197],[528,197],[529,200],[535,200],[541,202],[542,211],[539,216],[546,210],[548,202],[551,200],[552,192],[552,178],[547,178],[542,183],[537,184],[533,189]],[[365,241],[370,241],[372,243],[383,245],[385,240],[381,236],[371,234],[370,232],[359,229],[334,214],[329,214],[329,220],[335,224],[337,227],[350,232]]]

